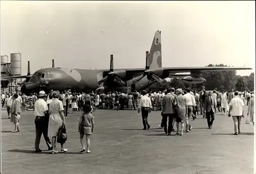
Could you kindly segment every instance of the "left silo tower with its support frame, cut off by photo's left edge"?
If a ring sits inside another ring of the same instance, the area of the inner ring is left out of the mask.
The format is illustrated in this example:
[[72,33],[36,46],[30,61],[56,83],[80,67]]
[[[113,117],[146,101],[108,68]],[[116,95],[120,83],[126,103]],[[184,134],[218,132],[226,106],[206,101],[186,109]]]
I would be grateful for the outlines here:
[[7,55],[1,56],[1,91],[9,91],[9,83],[10,80],[3,80],[4,77],[10,77],[11,76],[11,69],[10,69],[10,59]]

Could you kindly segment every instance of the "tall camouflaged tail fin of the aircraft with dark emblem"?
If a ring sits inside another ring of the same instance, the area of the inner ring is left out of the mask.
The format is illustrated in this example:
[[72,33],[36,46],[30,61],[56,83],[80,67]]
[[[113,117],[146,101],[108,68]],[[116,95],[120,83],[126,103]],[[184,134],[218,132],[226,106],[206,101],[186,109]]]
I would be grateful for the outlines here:
[[150,49],[150,55],[148,55],[148,64],[150,69],[162,67],[162,47],[161,47],[161,31],[156,31],[152,46]]

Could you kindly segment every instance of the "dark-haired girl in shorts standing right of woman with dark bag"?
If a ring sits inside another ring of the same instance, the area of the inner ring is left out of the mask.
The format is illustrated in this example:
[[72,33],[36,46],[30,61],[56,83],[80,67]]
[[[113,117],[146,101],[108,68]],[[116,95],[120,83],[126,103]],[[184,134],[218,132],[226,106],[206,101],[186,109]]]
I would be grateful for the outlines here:
[[[93,133],[94,129],[94,117],[91,114],[92,108],[90,104],[86,104],[82,106],[83,114],[80,117],[78,132],[80,132],[80,142],[82,145],[82,149],[80,153],[86,151],[86,153],[91,153],[90,148],[90,135]],[[83,136],[86,135],[86,147],[84,147]]]

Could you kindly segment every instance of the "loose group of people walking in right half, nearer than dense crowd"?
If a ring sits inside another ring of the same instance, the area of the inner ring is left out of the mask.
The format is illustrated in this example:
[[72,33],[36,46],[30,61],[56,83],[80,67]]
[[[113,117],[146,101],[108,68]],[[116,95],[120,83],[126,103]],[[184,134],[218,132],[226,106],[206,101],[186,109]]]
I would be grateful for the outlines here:
[[[250,94],[250,95],[248,95]],[[151,112],[152,105],[152,93],[142,92],[143,97],[139,101],[138,112],[142,114],[143,129],[149,129],[148,113]],[[190,124],[191,118],[195,120],[196,114],[200,111],[200,115],[207,119],[207,125],[209,129],[212,129],[215,114],[217,111],[222,112],[222,115],[226,115],[233,118],[234,122],[234,135],[241,133],[240,124],[241,118],[244,117],[245,97],[247,97],[248,112],[247,116],[254,125],[254,94],[244,92],[233,92],[230,90],[225,93],[224,90],[220,92],[217,89],[213,91],[205,91],[205,87],[202,86],[202,91],[196,92],[190,89],[182,90],[174,88],[166,89],[164,93],[158,93],[161,96],[161,102],[158,105],[162,107],[162,120],[159,125],[160,128],[164,128],[164,132],[167,135],[171,135],[174,130],[174,123],[177,123],[176,135],[183,135],[184,123],[186,125],[186,132],[190,132],[193,128]],[[249,96],[249,97],[248,97]],[[225,111],[226,110],[226,111]],[[168,126],[167,126],[168,120]],[[181,127],[179,127],[181,125]],[[167,129],[168,128],[168,129]],[[179,131],[180,130],[180,131]]]

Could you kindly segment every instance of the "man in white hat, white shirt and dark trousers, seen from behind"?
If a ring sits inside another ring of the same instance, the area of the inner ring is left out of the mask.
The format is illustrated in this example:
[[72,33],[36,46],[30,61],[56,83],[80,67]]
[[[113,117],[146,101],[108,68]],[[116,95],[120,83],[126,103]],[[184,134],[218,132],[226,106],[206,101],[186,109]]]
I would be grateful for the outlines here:
[[48,137],[48,106],[45,101],[46,93],[40,91],[38,99],[34,104],[34,115],[35,115],[35,153],[40,153],[42,150],[39,148],[41,135],[44,135],[48,150],[52,150],[52,147],[49,145],[51,141]]

